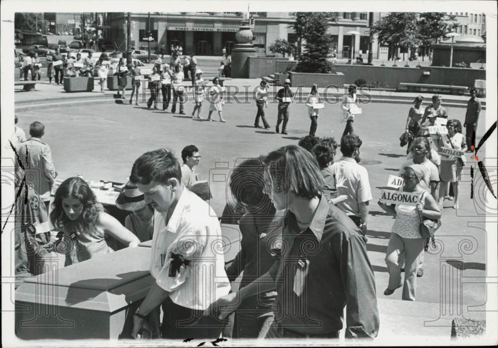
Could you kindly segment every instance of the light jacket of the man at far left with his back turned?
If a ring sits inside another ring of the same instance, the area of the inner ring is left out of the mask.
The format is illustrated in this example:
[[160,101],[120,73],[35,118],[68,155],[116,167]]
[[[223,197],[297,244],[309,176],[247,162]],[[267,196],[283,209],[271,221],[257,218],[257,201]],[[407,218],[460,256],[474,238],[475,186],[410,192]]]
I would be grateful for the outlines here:
[[39,138],[29,138],[19,144],[17,153],[24,167],[24,173],[20,169],[18,162],[15,161],[16,186],[22,180],[22,176],[25,175],[28,180],[26,183],[28,185],[31,183],[33,189],[43,200],[49,200],[52,183],[57,176],[50,146],[43,143]]

